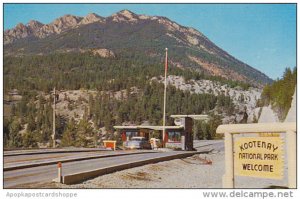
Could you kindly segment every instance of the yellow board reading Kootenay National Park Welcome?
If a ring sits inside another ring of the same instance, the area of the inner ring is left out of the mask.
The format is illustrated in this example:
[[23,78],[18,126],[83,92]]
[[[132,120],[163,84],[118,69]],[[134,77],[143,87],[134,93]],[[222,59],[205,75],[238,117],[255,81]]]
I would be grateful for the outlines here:
[[283,178],[281,137],[244,137],[234,143],[235,175],[271,179]]

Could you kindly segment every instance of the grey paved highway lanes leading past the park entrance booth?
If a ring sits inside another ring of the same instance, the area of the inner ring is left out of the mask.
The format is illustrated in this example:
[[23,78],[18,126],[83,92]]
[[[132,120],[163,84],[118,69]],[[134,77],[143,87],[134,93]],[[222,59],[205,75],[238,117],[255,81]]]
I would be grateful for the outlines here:
[[[207,151],[214,147],[222,147],[222,141],[210,143],[197,144],[197,151]],[[134,151],[141,152],[141,151]],[[134,161],[147,160],[152,158],[166,157],[174,154],[186,153],[182,151],[169,152],[155,152],[147,151],[148,153],[121,155],[115,157],[96,158],[89,160],[80,160],[66,162],[62,164],[63,175],[84,172],[104,167],[109,167],[118,164],[126,164]],[[149,153],[150,152],[150,153]],[[101,154],[113,153],[131,153],[130,151],[98,151],[98,152],[83,152],[83,153],[55,153],[55,154],[37,154],[37,155],[20,155],[20,156],[4,156],[4,166],[8,164],[23,164],[32,161],[49,161],[55,158],[79,158],[82,156],[93,156]],[[39,188],[35,184],[50,183],[57,178],[57,165],[51,164],[46,166],[29,167],[24,169],[16,169],[11,171],[4,171],[4,188]]]

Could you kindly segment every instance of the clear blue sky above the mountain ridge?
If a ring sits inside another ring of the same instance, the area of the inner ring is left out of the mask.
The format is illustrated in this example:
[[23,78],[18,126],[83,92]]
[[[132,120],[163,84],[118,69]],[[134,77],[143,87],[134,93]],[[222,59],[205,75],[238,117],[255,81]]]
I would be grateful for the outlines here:
[[5,4],[4,29],[31,19],[50,23],[65,14],[92,12],[107,17],[123,9],[193,27],[273,79],[296,66],[295,4]]

